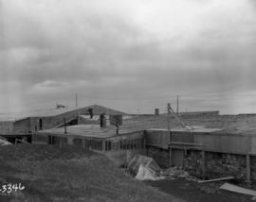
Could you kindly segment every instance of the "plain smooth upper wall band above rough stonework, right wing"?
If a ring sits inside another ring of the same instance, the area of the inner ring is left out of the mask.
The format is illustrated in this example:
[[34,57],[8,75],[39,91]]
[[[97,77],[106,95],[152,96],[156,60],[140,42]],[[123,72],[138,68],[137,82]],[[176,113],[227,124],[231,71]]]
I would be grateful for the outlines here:
[[[256,136],[227,134],[223,132],[172,131],[172,142],[203,144],[206,151],[230,154],[256,154]],[[147,130],[146,143],[168,148],[168,131]]]

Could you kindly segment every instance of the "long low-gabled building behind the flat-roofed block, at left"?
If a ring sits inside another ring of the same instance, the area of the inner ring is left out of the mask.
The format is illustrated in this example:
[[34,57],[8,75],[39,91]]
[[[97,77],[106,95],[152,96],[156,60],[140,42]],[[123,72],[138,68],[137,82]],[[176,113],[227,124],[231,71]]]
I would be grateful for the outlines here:
[[[77,125],[83,121],[82,114],[89,114],[88,109],[93,109],[93,113],[99,116],[102,112],[105,114],[124,114],[115,109],[108,109],[98,105],[85,108],[58,108],[45,111],[34,111],[33,113],[23,114],[22,118],[17,116],[11,121],[0,122],[0,134],[7,133],[29,133],[37,130],[64,126],[64,119],[67,126]],[[81,117],[81,119],[80,119]],[[95,118],[94,117],[94,118]],[[3,120],[3,118],[2,118]],[[95,122],[98,123],[98,120]]]

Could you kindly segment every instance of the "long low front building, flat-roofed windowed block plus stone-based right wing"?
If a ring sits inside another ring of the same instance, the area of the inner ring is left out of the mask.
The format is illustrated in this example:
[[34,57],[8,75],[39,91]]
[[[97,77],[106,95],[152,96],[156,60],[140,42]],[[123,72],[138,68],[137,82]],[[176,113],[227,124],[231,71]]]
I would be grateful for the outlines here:
[[[122,127],[121,127],[122,128]],[[136,154],[153,158],[159,166],[181,166],[202,178],[234,176],[256,181],[256,137],[226,133],[218,128],[195,127],[192,130],[148,129],[119,130],[115,126],[67,126],[38,131],[32,143],[64,146],[73,144],[100,152],[118,165],[126,164]]]

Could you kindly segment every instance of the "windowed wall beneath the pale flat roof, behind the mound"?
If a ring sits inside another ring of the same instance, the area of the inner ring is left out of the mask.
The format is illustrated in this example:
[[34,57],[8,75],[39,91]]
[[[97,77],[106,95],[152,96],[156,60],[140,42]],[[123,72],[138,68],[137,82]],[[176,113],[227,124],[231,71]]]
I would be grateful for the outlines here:
[[[65,143],[84,147],[107,156],[117,165],[127,164],[136,154],[146,155],[144,131],[132,132],[110,138],[93,138],[71,135],[34,134],[32,143]],[[61,145],[63,144],[63,145]]]

